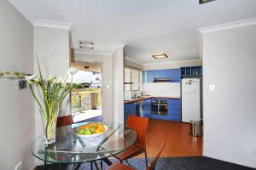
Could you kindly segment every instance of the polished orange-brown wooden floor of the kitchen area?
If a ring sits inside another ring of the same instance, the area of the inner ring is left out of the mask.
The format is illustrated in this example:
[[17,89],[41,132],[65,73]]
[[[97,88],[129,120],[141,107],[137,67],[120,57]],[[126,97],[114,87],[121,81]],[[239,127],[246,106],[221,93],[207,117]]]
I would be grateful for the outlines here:
[[202,155],[202,137],[189,135],[189,123],[150,119],[146,137],[148,157],[156,156],[166,137],[167,144],[161,157]]

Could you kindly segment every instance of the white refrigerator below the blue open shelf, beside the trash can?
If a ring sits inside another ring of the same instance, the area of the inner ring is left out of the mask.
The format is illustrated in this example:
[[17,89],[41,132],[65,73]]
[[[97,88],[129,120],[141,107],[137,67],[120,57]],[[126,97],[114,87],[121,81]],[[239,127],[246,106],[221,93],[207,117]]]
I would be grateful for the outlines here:
[[201,119],[200,78],[182,79],[182,121]]

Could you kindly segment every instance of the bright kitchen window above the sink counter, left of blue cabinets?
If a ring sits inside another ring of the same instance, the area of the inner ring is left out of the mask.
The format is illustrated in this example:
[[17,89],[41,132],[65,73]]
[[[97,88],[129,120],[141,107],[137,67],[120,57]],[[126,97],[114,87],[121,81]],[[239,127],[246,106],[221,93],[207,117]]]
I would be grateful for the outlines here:
[[141,72],[137,69],[125,67],[125,91],[140,90]]

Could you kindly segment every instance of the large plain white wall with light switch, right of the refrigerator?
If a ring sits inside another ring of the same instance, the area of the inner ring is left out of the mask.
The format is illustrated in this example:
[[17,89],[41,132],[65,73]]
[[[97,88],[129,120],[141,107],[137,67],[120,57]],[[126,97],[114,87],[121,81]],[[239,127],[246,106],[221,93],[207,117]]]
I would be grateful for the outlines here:
[[256,167],[255,44],[255,25],[203,35],[203,155],[250,167]]

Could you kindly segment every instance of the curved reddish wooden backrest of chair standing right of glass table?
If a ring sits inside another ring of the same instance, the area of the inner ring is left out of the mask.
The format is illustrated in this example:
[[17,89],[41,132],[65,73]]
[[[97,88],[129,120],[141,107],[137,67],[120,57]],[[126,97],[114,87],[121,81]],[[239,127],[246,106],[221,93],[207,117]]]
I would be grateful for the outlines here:
[[139,144],[146,148],[145,139],[146,139],[146,132],[148,127],[148,118],[139,117],[134,115],[129,115],[126,125],[131,127],[137,133],[137,140],[136,144]]

